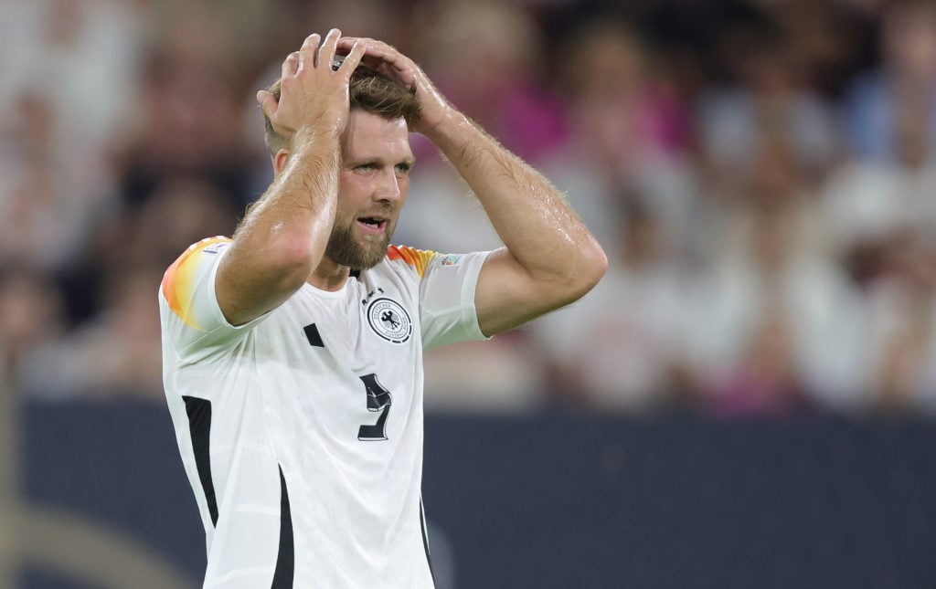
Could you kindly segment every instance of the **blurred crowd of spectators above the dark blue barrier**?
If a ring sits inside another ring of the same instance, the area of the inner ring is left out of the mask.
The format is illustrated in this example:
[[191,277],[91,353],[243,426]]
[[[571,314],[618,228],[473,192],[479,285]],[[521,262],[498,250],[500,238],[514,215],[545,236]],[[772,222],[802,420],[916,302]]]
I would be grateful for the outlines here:
[[[619,6],[620,5],[620,6]],[[431,410],[936,415],[936,4],[0,0],[0,379],[160,401],[156,289],[271,165],[256,90],[375,36],[563,190],[578,303],[432,351]],[[397,243],[499,242],[425,139]]]

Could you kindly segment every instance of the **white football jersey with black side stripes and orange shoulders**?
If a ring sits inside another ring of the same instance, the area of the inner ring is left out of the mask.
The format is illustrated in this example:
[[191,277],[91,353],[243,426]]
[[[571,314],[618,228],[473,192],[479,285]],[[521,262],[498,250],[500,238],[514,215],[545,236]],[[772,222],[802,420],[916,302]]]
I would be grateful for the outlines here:
[[205,527],[205,587],[432,587],[422,512],[423,364],[483,339],[488,252],[391,246],[337,292],[304,284],[232,326],[190,247],[159,291],[163,378]]

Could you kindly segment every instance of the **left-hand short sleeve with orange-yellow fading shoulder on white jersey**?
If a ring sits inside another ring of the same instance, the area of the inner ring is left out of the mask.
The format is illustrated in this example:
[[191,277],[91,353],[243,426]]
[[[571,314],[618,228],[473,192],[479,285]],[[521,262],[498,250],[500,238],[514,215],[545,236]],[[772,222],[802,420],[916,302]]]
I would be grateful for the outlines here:
[[160,307],[164,338],[171,340],[177,352],[196,344],[219,346],[237,340],[265,317],[234,326],[218,305],[214,278],[230,243],[228,237],[202,239],[184,251],[163,276]]

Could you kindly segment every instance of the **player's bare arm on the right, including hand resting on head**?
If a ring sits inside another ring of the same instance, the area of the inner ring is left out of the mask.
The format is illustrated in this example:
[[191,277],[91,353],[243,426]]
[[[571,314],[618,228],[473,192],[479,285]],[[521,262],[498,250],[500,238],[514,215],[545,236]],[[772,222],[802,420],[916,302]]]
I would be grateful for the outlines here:
[[505,248],[490,255],[475,307],[485,335],[511,329],[587,293],[607,257],[555,187],[482,131],[436,90],[412,60],[387,43],[342,37],[339,50],[365,48],[362,62],[416,90],[427,136],[474,191]]

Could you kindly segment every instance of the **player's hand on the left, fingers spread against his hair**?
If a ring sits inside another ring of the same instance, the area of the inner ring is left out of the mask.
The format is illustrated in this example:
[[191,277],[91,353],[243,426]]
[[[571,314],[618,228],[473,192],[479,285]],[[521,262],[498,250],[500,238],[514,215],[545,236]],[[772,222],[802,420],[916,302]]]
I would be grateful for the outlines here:
[[331,62],[341,38],[341,31],[331,29],[323,41],[317,33],[307,36],[300,50],[290,53],[283,62],[280,99],[266,90],[256,93],[260,108],[273,130],[291,141],[303,128],[340,135],[348,117],[348,84],[351,73],[364,55],[364,46],[355,43],[334,70]]

